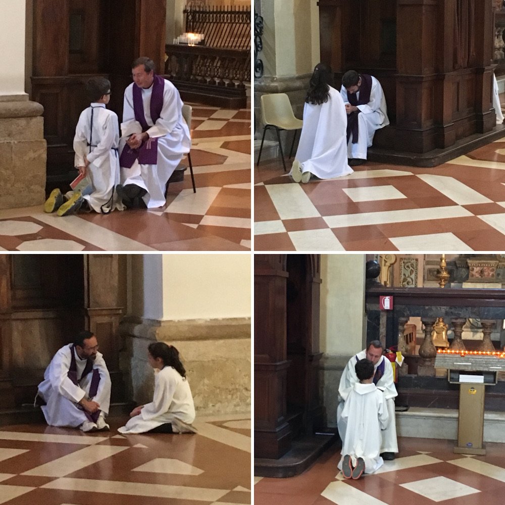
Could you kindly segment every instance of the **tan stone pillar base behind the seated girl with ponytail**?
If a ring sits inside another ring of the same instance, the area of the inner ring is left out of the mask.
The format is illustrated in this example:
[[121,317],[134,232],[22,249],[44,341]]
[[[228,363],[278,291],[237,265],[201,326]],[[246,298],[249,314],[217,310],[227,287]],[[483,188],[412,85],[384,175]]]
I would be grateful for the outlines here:
[[123,319],[126,337],[121,368],[130,376],[130,398],[137,404],[153,400],[154,372],[147,346],[174,345],[193,394],[197,415],[234,414],[251,408],[250,318],[156,321]]

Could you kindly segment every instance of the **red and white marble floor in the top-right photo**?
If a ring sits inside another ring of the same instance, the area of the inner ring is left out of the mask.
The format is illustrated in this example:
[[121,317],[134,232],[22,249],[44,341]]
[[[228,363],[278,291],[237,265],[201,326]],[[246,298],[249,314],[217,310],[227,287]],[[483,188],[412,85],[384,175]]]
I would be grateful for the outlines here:
[[307,184],[262,162],[254,233],[257,251],[505,250],[505,139],[434,168],[368,162]]

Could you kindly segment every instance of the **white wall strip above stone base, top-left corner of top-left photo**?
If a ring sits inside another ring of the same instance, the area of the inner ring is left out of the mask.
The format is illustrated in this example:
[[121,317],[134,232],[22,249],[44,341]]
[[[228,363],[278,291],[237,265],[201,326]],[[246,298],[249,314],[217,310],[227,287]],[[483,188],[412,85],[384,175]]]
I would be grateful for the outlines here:
[[0,95],[25,94],[25,2],[0,0]]

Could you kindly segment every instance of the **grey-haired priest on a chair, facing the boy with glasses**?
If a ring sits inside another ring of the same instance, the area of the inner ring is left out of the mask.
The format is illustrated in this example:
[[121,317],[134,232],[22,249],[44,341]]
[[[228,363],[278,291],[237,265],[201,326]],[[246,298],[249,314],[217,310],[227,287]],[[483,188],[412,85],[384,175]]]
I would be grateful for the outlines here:
[[119,142],[121,184],[118,196],[127,208],[165,205],[165,187],[191,147],[176,87],[155,74],[153,60],[137,58],[126,89]]

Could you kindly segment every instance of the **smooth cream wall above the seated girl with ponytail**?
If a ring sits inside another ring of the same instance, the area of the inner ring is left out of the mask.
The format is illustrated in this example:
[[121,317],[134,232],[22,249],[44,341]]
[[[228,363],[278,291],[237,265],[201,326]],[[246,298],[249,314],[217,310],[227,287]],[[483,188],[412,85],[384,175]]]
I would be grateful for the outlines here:
[[250,255],[130,255],[128,312],[160,321],[251,317]]

